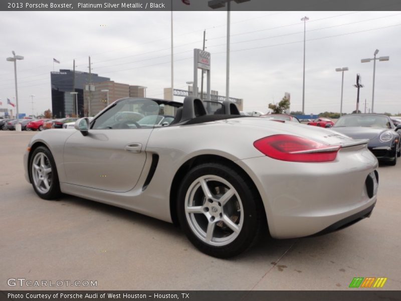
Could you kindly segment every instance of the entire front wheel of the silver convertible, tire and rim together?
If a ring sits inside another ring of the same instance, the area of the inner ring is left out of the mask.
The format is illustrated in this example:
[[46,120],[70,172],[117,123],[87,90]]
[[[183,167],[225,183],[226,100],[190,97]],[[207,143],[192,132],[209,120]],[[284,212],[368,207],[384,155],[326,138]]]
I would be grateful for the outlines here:
[[35,148],[29,170],[32,186],[39,197],[51,200],[61,195],[56,164],[48,148],[44,146]]

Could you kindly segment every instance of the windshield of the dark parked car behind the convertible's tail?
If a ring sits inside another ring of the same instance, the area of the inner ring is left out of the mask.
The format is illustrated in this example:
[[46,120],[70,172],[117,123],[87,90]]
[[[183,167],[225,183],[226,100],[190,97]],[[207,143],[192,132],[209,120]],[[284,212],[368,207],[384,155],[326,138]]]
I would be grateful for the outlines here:
[[339,126],[391,128],[391,122],[387,116],[382,115],[344,115],[334,125]]

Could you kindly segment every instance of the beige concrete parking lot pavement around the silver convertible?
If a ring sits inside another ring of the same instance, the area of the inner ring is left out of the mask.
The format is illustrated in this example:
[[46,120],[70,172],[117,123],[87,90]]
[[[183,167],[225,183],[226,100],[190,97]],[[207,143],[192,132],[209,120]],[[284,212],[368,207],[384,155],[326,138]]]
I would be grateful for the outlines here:
[[401,289],[401,161],[379,167],[370,218],[325,236],[264,239],[222,260],[171,224],[72,196],[40,199],[23,168],[34,134],[0,131],[0,290],[49,288],[11,287],[10,278],[97,280],[85,288],[101,290],[336,290],[353,277],[387,277],[379,289]]

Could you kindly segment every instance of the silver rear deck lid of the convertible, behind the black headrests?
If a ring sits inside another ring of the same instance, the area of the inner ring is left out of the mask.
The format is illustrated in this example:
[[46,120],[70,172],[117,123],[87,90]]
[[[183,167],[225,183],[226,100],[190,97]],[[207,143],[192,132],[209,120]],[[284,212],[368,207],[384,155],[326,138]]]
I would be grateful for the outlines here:
[[342,133],[336,132],[331,129],[310,126],[293,121],[278,122],[265,118],[242,117],[220,120],[217,122],[228,122],[231,124],[237,124],[239,126],[249,125],[265,127],[269,128],[271,131],[274,131],[277,134],[297,135],[329,145],[349,146],[352,144],[361,144],[367,142],[366,139],[355,141],[353,138],[350,138]]

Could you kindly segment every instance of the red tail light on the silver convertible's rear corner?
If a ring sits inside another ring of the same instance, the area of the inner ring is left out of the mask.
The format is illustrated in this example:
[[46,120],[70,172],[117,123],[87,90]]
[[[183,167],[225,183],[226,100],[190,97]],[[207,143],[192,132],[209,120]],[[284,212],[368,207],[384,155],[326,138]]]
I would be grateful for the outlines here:
[[264,155],[291,162],[330,162],[337,157],[339,145],[320,142],[293,135],[273,135],[254,142]]

